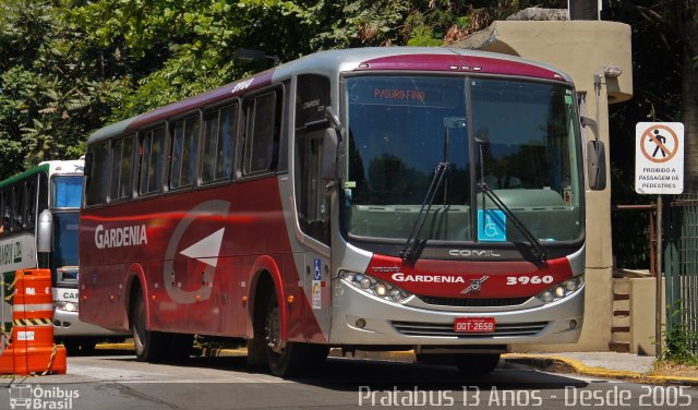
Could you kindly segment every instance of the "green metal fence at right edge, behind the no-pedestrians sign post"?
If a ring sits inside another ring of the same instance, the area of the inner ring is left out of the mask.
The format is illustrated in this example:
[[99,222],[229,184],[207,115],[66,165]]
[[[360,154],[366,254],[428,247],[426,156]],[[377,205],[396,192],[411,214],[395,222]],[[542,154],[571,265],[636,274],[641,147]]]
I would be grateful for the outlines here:
[[698,353],[698,195],[676,196],[666,204],[664,272],[666,331],[679,326]]

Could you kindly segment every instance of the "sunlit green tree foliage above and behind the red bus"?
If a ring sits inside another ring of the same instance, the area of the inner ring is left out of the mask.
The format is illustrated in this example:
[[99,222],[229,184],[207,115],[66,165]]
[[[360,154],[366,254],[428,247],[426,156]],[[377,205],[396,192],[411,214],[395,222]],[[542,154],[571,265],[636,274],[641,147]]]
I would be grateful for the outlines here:
[[0,178],[91,131],[330,48],[440,46],[529,1],[0,0]]

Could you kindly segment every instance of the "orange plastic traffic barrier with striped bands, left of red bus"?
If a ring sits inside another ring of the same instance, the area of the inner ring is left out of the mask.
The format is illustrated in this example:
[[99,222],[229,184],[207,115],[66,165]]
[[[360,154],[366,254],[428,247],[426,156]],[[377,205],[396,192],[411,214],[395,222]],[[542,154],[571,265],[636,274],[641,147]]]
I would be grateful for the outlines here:
[[65,348],[53,342],[53,290],[49,269],[15,273],[12,341],[0,355],[0,374],[65,374]]

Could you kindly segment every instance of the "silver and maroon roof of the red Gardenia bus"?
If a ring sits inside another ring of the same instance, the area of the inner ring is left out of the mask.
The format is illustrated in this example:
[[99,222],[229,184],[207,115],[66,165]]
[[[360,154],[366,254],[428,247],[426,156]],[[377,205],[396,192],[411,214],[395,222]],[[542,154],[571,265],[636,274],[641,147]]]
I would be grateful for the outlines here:
[[[518,75],[571,83],[571,77],[550,65],[508,55],[446,47],[366,47],[320,51],[209,92],[156,108],[97,130],[88,144],[155,125],[231,96],[284,81],[298,74],[336,79],[342,72],[429,71]],[[336,104],[336,102],[335,102]]]

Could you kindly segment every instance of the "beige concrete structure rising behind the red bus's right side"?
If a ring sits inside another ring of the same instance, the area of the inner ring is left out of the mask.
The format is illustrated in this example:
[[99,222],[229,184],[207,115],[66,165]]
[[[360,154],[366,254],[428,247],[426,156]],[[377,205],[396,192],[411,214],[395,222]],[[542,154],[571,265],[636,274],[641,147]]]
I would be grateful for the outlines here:
[[[604,191],[587,191],[587,303],[581,338],[577,345],[521,346],[515,350],[609,350],[613,252],[607,105],[633,96],[630,26],[601,21],[497,21],[450,47],[504,52],[547,63],[570,74],[577,91],[586,95],[581,110],[599,124],[600,138],[606,146],[609,185]],[[623,71],[621,76],[604,75],[604,69],[611,65]],[[598,94],[594,74],[600,79]],[[593,137],[591,132],[586,133],[587,138]]]

